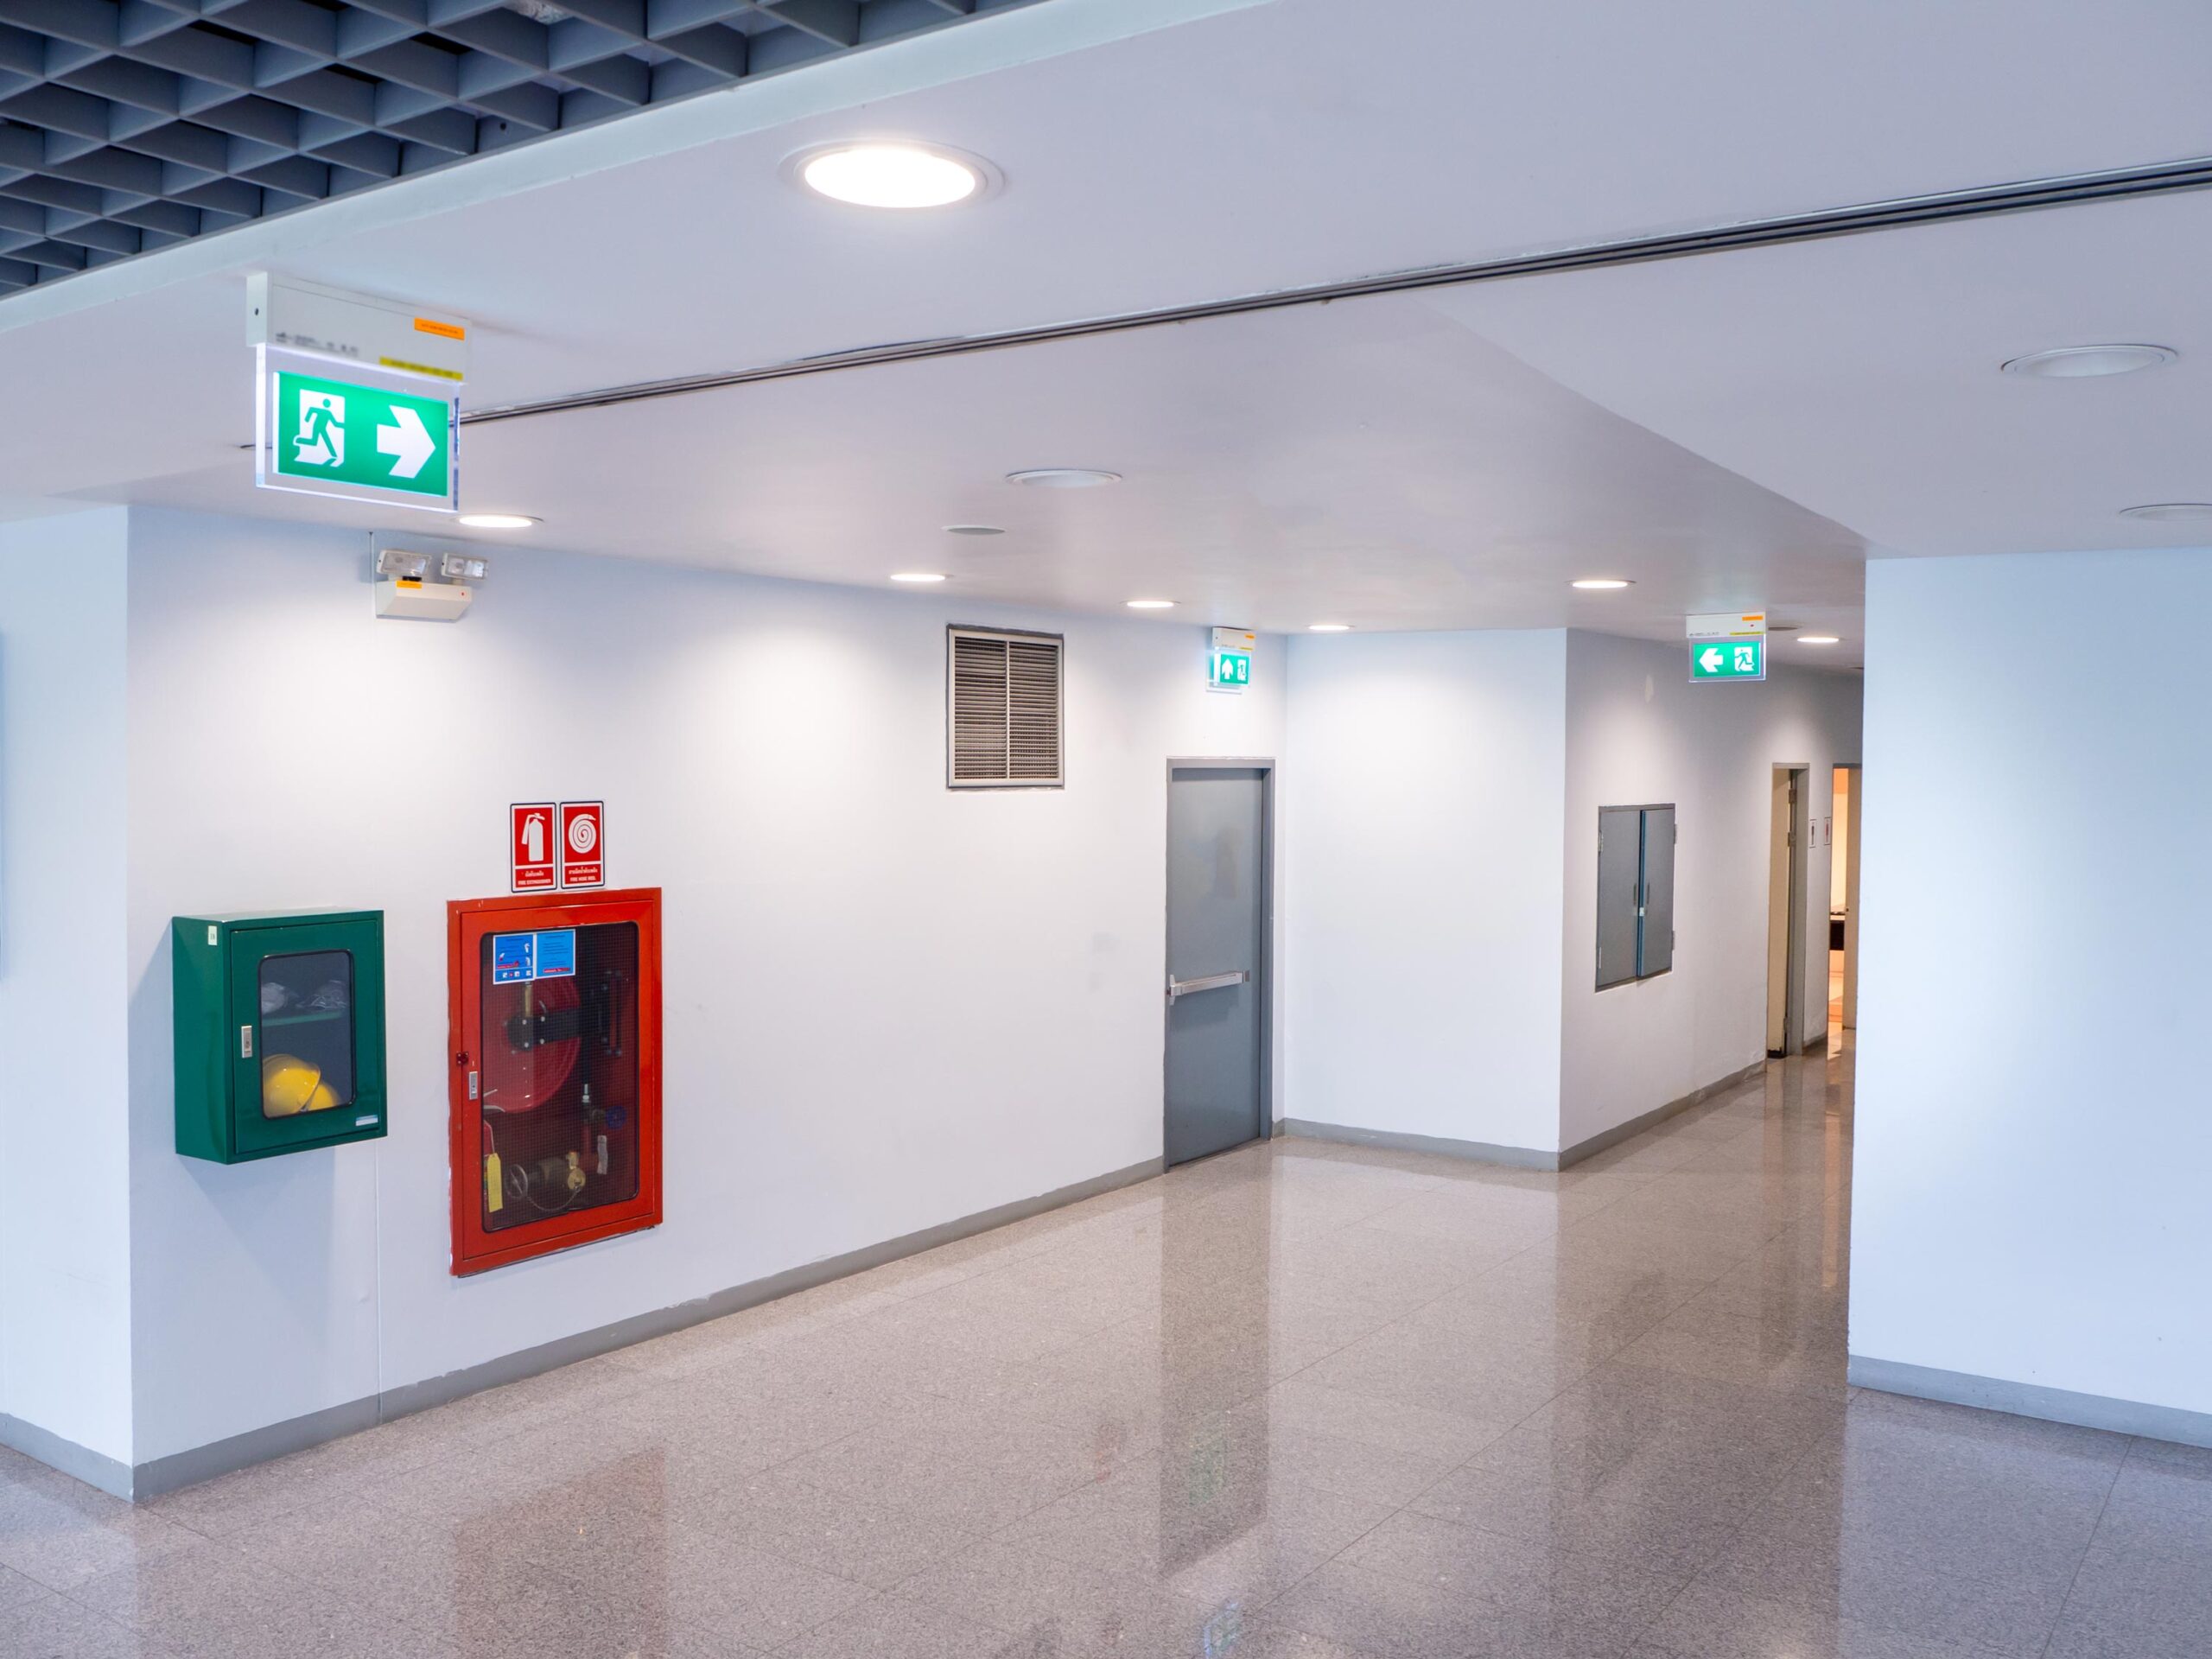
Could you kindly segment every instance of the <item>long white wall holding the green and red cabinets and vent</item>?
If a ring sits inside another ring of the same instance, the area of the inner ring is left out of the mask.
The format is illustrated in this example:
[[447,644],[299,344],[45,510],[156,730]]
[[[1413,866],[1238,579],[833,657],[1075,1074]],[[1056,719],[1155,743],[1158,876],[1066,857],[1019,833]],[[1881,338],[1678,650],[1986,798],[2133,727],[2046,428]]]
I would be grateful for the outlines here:
[[[1166,757],[1279,754],[1283,661],[1053,619],[511,551],[376,622],[358,535],[131,520],[139,1460],[1121,1170],[1161,1150]],[[1068,787],[945,790],[945,624],[1068,635]],[[666,905],[655,1232],[447,1272],[445,900],[509,801],[604,796]],[[392,1135],[170,1152],[168,918],[378,907]]]

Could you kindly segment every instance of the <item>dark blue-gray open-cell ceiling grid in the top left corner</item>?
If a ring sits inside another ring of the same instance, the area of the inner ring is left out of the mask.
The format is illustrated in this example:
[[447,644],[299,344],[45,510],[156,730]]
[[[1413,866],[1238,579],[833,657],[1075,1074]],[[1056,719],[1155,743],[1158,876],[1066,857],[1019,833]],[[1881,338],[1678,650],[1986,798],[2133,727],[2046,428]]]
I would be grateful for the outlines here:
[[0,0],[0,296],[1033,0]]

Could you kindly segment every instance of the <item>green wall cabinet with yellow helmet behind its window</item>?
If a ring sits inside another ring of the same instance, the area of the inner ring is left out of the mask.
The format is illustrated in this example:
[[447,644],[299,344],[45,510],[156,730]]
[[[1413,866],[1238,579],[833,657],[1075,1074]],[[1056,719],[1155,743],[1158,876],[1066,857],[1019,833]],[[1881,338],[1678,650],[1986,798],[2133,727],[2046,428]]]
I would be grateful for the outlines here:
[[179,916],[177,1150],[246,1164],[385,1133],[385,914]]

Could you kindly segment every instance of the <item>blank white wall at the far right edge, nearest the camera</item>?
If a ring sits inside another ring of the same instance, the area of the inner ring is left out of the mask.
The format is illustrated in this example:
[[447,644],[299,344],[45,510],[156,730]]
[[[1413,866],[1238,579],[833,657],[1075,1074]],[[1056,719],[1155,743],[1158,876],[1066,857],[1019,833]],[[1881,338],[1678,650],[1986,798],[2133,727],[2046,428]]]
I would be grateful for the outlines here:
[[1851,1352],[2212,1411],[2212,551],[1867,568]]

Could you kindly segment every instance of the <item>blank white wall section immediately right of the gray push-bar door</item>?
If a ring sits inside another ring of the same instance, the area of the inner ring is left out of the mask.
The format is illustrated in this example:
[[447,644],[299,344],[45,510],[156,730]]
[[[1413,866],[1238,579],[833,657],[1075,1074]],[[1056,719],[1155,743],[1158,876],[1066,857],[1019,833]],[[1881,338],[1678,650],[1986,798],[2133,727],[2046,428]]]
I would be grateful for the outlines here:
[[1559,1146],[1566,635],[1290,641],[1283,1115]]

